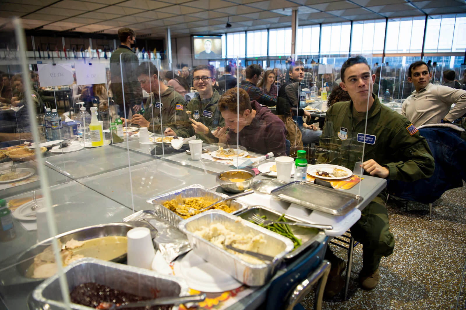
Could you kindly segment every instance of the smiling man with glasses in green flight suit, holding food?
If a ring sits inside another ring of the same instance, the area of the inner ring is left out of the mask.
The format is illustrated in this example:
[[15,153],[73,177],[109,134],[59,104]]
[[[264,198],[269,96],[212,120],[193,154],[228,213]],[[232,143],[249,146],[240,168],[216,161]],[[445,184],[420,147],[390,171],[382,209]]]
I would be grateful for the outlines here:
[[219,92],[212,88],[214,73],[209,66],[202,65],[195,67],[192,74],[194,88],[199,93],[186,106],[191,112],[192,135],[204,142],[216,143],[218,139],[212,135],[212,130],[225,126],[225,120],[217,107]]

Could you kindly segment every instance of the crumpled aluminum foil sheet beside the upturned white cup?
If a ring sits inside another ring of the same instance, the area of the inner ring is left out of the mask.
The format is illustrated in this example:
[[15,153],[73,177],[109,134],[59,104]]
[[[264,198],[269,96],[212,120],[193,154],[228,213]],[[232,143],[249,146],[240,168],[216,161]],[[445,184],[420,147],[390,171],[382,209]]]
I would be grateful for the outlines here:
[[123,222],[149,223],[151,232],[155,231],[151,235],[155,249],[160,250],[167,263],[171,263],[178,256],[191,250],[191,245],[189,245],[186,235],[179,231],[178,227],[174,227],[171,223],[158,216],[155,210],[137,211],[130,216],[126,216]]

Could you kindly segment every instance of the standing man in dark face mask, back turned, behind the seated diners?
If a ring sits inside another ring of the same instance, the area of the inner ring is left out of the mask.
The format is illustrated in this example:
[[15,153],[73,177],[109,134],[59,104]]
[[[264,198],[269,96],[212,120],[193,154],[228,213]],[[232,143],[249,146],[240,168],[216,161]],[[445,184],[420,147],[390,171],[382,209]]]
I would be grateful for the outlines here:
[[132,115],[139,110],[143,99],[137,76],[133,75],[139,65],[139,60],[131,49],[136,44],[136,34],[130,28],[120,28],[118,29],[118,38],[121,45],[110,57],[111,90],[113,100],[120,108],[118,114],[121,116],[126,115],[129,118],[130,114]]

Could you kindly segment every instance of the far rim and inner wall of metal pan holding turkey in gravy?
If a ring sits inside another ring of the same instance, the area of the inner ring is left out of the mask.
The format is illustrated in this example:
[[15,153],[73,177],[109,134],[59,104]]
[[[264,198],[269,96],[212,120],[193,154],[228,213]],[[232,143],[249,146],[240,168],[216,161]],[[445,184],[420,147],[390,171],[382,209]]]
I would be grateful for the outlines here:
[[[135,227],[136,225],[130,223],[99,224],[74,229],[59,234],[56,237],[60,240],[62,244],[65,244],[67,241],[73,238],[75,240],[82,241],[105,236],[126,236],[128,230],[133,229]],[[42,281],[43,279],[27,277],[26,272],[27,269],[31,266],[31,264],[34,263],[34,257],[41,253],[44,249],[46,249],[50,244],[52,244],[52,240],[53,237],[45,239],[40,243],[34,244],[32,247],[20,253],[19,255],[14,255],[10,259],[3,261],[1,263],[1,267],[11,267],[0,272],[1,285],[7,286]],[[124,262],[125,260],[126,254],[116,257],[113,261]]]

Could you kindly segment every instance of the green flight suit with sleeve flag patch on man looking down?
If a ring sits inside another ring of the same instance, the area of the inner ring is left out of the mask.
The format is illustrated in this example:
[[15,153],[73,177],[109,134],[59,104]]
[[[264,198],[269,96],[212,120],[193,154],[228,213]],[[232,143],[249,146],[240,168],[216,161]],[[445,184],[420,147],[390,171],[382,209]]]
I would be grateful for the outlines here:
[[[162,107],[158,107],[158,102],[162,103]],[[190,136],[191,121],[185,112],[186,101],[173,88],[167,88],[160,98],[157,94],[151,93],[146,104],[149,106],[143,116],[151,123],[149,131],[159,134],[170,127],[180,137]],[[162,113],[162,122],[160,122],[160,113]]]

